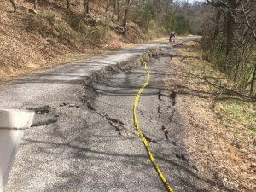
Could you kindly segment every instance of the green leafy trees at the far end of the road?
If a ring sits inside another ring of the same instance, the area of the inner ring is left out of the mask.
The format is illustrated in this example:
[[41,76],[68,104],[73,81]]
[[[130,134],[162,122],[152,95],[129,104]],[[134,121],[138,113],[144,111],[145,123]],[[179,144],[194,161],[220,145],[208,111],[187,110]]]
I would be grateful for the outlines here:
[[174,9],[183,9],[183,5],[148,1],[142,7],[131,10],[131,20],[148,33],[148,38],[166,36],[171,31],[178,35],[189,34],[191,32],[189,20],[182,13],[175,12]]

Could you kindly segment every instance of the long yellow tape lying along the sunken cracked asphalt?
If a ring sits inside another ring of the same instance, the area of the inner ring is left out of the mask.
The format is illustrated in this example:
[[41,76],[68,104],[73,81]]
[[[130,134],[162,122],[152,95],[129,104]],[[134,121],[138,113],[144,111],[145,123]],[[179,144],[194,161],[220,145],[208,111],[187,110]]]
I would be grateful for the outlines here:
[[148,157],[151,160],[156,172],[158,173],[161,181],[165,184],[166,189],[169,192],[173,192],[172,187],[169,185],[169,183],[166,182],[166,177],[164,176],[164,174],[160,171],[159,166],[156,164],[153,155],[151,154],[150,148],[148,147],[148,142],[147,139],[144,137],[143,135],[143,131],[140,129],[138,122],[137,122],[137,113],[136,113],[136,109],[137,109],[137,103],[140,100],[140,96],[144,90],[144,88],[148,85],[149,79],[150,79],[150,73],[148,72],[148,67],[147,67],[147,62],[143,60],[143,57],[141,57],[142,61],[143,61],[143,66],[144,66],[144,70],[147,72],[148,74],[148,80],[143,84],[143,87],[137,92],[137,96],[135,97],[134,103],[133,103],[133,119],[134,119],[134,125],[137,129],[137,132],[139,134],[140,137],[143,138],[143,144],[148,152]]

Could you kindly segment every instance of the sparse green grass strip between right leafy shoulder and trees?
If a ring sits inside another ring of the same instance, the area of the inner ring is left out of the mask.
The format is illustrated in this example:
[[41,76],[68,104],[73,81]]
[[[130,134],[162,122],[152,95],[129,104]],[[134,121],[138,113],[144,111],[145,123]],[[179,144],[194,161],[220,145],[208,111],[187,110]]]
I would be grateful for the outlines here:
[[[188,44],[181,49],[183,54],[189,56],[181,59],[187,65],[189,73],[205,78],[205,83],[195,84],[195,90],[207,91],[210,94],[209,102],[212,101],[212,113],[220,120],[221,129],[230,138],[230,144],[241,152],[250,156],[256,162],[256,102],[250,102],[245,98],[234,96],[226,90],[219,89],[218,85],[232,88],[233,84],[224,73],[218,71],[211,63],[203,60],[200,44]],[[198,81],[191,78],[191,81]],[[210,81],[212,84],[208,84]],[[253,154],[254,153],[254,154]]]

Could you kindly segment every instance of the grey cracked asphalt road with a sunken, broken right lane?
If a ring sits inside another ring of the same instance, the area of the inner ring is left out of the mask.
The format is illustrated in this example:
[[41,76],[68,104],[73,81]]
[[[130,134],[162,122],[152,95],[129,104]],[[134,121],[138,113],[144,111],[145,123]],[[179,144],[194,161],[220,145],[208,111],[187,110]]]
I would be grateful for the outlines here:
[[[90,101],[81,99],[84,87],[79,83],[94,66],[102,67],[104,58],[106,65],[117,59],[125,62],[148,46],[1,85],[0,99],[5,101],[1,108],[37,112],[33,127],[25,131],[5,191],[166,191],[133,125],[133,100],[146,81],[143,67],[92,82],[86,90],[93,92]],[[172,75],[166,68],[172,65],[168,55],[174,49],[167,44],[150,46],[162,46],[162,56],[148,64],[151,79],[138,104],[139,125],[174,191],[206,191],[183,145],[186,129],[175,108],[177,94],[163,81]]]

